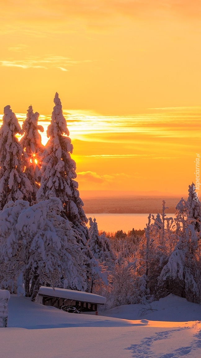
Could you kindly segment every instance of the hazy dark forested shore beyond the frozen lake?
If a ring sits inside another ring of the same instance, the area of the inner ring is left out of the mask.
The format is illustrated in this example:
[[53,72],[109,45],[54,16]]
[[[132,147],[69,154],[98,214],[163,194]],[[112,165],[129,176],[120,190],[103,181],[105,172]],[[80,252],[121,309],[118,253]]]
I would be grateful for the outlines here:
[[[163,197],[94,197],[84,198],[84,212],[111,214],[160,213]],[[167,213],[174,213],[180,197],[166,197]]]

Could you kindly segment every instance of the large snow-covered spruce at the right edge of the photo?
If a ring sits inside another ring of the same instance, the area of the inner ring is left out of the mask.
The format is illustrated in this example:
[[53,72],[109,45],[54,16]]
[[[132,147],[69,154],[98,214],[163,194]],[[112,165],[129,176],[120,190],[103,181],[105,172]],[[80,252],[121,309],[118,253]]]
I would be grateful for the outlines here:
[[175,229],[166,264],[158,279],[158,295],[174,293],[192,302],[200,302],[201,247],[200,202],[189,185],[188,200],[176,205]]

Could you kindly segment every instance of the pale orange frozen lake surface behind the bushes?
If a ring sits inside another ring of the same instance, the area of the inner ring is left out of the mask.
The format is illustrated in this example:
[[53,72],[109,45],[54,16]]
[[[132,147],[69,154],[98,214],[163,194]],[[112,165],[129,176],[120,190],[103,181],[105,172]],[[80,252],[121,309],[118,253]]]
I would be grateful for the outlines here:
[[[156,217],[156,214],[153,214]],[[98,230],[115,232],[123,230],[126,233],[132,230],[144,229],[148,222],[149,214],[86,214],[87,218],[95,217]],[[174,214],[167,214],[167,217],[174,217]]]

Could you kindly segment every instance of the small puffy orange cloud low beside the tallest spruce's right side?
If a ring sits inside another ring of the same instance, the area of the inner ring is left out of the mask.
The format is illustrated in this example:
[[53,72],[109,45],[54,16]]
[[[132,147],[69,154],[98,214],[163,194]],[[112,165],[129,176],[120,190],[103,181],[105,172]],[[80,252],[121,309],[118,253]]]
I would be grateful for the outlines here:
[[125,179],[131,177],[130,175],[124,173],[99,175],[95,171],[81,171],[77,173],[77,175],[79,176],[79,180],[81,179],[87,182],[94,182],[94,183],[104,183],[104,182],[112,183],[115,178],[121,180],[122,178]]

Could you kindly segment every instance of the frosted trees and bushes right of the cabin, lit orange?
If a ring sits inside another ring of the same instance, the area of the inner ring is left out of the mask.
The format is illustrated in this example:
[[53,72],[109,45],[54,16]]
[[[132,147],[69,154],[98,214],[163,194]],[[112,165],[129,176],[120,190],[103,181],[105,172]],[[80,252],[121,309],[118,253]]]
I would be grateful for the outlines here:
[[176,205],[174,218],[163,200],[162,213],[149,215],[143,236],[134,230],[110,235],[115,260],[109,285],[97,290],[109,306],[151,303],[170,293],[201,303],[201,205],[194,188]]

